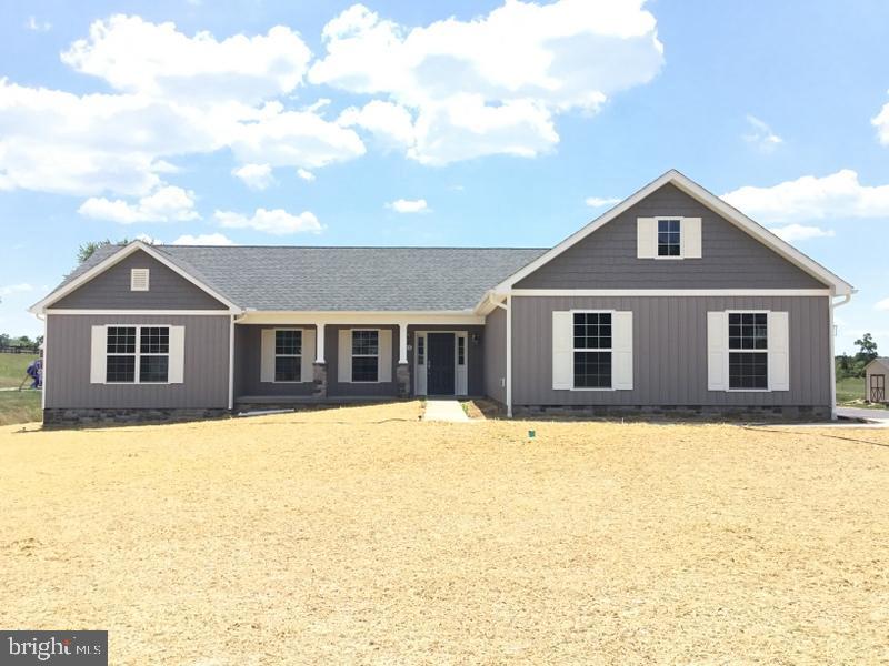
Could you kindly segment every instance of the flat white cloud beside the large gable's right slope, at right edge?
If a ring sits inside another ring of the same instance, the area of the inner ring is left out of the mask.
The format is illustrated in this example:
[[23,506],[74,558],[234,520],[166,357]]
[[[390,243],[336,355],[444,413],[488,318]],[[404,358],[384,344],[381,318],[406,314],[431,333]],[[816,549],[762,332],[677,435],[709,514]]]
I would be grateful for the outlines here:
[[805,175],[771,188],[739,188],[722,199],[767,223],[889,218],[889,185],[862,185],[849,169],[823,178]]

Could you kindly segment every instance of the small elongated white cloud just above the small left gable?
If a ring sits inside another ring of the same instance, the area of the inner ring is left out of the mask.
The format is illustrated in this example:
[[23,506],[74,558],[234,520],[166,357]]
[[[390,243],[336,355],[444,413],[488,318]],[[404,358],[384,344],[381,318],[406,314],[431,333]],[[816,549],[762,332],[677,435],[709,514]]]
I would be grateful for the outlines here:
[[194,210],[194,193],[172,185],[160,188],[134,203],[93,196],[84,201],[78,212],[86,218],[120,224],[184,222],[200,218]]

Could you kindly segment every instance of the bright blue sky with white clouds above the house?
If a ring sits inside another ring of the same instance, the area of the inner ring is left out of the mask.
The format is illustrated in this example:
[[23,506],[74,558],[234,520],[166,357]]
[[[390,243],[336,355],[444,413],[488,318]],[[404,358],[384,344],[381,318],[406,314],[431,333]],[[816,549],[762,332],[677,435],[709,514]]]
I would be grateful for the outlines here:
[[2,331],[89,240],[549,246],[677,168],[889,352],[889,3],[0,8]]

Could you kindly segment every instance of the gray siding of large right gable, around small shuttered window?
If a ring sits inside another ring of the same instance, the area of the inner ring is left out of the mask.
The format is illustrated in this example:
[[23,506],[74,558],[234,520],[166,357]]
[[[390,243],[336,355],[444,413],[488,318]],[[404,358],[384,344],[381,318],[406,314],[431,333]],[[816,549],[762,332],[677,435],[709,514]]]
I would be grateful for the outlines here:
[[[701,219],[701,259],[637,258],[637,218]],[[826,285],[672,184],[519,281],[518,289],[823,289]]]

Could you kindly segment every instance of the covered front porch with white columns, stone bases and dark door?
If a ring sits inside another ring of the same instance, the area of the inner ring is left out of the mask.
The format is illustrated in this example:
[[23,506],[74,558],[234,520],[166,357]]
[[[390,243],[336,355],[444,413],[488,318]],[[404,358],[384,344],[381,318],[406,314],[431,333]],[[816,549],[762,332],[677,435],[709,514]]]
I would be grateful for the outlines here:
[[250,312],[233,327],[236,407],[485,393],[471,313]]

